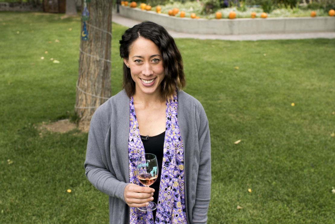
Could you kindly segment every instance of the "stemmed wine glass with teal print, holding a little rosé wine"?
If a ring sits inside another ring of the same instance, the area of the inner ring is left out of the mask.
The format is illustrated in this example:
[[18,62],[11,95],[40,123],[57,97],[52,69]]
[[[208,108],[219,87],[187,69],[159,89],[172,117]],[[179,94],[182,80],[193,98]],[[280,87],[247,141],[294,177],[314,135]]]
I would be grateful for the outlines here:
[[[153,184],[158,177],[157,158],[151,153],[144,153],[137,160],[137,179],[146,187]],[[146,207],[138,208],[141,211],[153,211],[157,208],[156,203],[149,202]]]

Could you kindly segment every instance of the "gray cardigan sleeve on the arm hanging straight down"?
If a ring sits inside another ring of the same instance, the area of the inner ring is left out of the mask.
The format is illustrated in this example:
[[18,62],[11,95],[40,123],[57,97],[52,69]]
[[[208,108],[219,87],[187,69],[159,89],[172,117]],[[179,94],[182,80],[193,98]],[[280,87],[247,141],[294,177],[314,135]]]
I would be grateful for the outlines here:
[[211,146],[208,120],[202,105],[197,105],[199,170],[195,204],[192,211],[192,224],[207,223],[207,212],[211,189]]

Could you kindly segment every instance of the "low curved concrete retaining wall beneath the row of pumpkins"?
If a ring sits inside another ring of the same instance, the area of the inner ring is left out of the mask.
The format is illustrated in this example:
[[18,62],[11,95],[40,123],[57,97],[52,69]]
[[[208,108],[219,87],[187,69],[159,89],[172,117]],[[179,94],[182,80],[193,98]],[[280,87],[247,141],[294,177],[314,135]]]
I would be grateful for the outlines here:
[[335,32],[335,16],[314,18],[191,19],[125,6],[120,6],[120,15],[138,21],[153,21],[166,29],[189,34],[239,35]]

